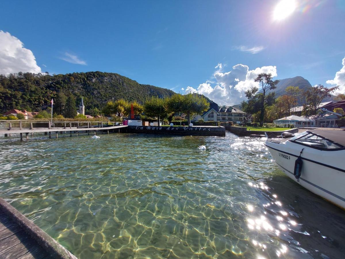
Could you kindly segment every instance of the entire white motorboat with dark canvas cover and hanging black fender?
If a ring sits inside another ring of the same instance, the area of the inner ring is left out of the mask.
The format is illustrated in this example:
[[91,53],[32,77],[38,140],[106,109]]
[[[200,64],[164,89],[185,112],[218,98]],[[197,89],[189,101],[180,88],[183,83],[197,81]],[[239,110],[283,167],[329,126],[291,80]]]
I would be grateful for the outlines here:
[[345,209],[344,130],[308,130],[288,140],[268,138],[265,146],[291,179]]

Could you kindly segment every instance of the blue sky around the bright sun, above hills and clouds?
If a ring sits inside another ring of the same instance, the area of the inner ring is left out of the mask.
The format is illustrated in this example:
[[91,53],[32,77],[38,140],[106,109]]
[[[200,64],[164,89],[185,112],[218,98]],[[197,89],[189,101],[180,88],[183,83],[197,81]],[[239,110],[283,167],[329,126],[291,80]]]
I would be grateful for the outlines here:
[[224,87],[215,73],[237,64],[276,66],[277,79],[303,76],[312,85],[335,79],[345,57],[345,1],[296,0],[292,15],[275,21],[277,2],[2,1],[0,30],[50,74],[114,72],[175,92]]

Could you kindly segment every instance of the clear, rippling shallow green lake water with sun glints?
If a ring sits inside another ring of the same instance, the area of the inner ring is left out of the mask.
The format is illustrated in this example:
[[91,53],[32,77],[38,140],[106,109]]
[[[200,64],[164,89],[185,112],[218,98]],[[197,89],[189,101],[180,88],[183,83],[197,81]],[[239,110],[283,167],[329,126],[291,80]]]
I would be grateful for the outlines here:
[[0,196],[78,258],[344,257],[345,212],[259,138],[100,137],[0,137]]

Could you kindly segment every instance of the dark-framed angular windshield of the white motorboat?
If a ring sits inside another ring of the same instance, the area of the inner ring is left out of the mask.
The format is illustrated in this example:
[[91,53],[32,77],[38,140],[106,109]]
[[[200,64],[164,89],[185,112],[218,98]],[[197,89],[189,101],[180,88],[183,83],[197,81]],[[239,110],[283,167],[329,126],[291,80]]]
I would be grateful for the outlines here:
[[322,149],[335,149],[335,148],[343,148],[342,146],[337,145],[334,142],[327,140],[321,136],[312,134],[310,132],[303,132],[298,136],[290,138],[290,141],[296,142],[298,144],[314,147],[314,148],[322,148]]

